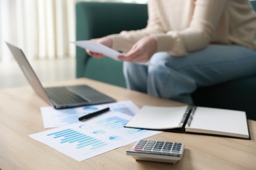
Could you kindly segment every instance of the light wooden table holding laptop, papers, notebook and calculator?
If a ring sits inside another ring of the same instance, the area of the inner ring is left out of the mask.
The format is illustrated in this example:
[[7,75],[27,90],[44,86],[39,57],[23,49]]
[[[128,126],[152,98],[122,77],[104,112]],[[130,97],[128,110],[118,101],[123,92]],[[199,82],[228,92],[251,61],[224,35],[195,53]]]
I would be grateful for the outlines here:
[[[85,78],[54,85],[60,84],[89,84],[117,100],[132,100],[139,107],[182,105]],[[28,137],[45,131],[39,108],[47,104],[32,88],[0,90],[0,96],[0,169],[256,169],[253,120],[249,120],[251,140],[169,132],[148,138],[184,143],[184,156],[176,165],[135,161],[125,155],[133,144],[79,162]]]

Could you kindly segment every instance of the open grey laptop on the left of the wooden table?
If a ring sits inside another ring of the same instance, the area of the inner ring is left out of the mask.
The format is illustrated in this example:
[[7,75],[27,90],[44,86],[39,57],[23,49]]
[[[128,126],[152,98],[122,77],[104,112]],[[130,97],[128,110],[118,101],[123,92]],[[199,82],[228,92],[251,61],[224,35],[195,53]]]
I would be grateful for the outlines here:
[[24,52],[22,52],[20,48],[8,42],[6,43],[11,50],[12,55],[18,62],[18,65],[20,65],[24,75],[28,79],[28,82],[30,82],[33,90],[55,109],[68,109],[72,107],[112,103],[116,101],[112,97],[100,93],[87,85],[43,88]]

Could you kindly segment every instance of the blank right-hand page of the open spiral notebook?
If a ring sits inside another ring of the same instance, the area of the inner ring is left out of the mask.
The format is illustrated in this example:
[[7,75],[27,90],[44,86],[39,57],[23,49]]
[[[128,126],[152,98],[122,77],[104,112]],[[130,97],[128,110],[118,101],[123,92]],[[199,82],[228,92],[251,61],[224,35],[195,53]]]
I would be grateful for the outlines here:
[[[192,123],[190,127],[186,126],[186,129],[205,129],[249,135],[245,112],[244,114],[242,113],[242,111],[238,110],[197,107]],[[188,129],[188,131],[192,130]]]

